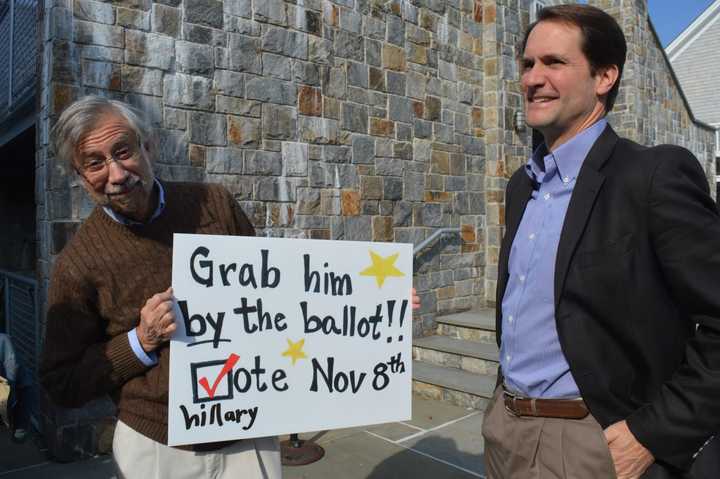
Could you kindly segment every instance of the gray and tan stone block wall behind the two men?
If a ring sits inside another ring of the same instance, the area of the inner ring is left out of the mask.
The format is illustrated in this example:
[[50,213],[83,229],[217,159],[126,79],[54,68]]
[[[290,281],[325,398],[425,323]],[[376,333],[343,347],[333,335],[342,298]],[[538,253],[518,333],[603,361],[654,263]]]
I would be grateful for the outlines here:
[[[41,304],[90,211],[48,132],[90,93],[144,108],[165,149],[158,174],[225,185],[260,233],[417,244],[459,228],[416,259],[415,334],[438,313],[494,303],[504,191],[531,146],[514,120],[529,0],[40,3]],[[645,2],[590,3],[631,43],[613,125],[688,146],[714,176],[711,134],[692,123]]]

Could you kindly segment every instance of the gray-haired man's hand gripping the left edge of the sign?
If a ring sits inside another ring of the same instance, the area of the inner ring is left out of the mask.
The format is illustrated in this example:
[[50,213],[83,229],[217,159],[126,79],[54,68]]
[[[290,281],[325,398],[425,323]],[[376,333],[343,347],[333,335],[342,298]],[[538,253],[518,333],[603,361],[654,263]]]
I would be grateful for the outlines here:
[[154,351],[175,332],[172,288],[152,296],[140,310],[137,335],[146,353]]

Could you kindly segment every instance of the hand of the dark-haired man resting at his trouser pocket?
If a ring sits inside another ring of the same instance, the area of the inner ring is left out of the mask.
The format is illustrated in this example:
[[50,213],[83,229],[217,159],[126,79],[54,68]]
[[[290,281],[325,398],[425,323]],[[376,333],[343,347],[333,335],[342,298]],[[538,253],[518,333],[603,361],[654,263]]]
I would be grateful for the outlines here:
[[650,451],[635,439],[625,421],[608,426],[605,429],[605,439],[610,447],[618,479],[638,478],[655,462]]

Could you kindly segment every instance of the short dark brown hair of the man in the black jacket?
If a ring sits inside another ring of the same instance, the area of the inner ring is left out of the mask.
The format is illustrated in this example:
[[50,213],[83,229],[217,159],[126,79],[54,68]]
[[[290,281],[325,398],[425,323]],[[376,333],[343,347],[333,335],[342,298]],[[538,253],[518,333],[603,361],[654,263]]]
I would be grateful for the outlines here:
[[605,111],[612,110],[620,89],[620,78],[627,55],[627,43],[620,25],[607,13],[590,5],[545,7],[538,12],[537,21],[530,24],[525,32],[521,52],[525,52],[530,32],[540,22],[561,22],[580,29],[582,33],[580,48],[590,63],[590,73],[593,76],[604,67],[617,66],[618,78],[605,99]]

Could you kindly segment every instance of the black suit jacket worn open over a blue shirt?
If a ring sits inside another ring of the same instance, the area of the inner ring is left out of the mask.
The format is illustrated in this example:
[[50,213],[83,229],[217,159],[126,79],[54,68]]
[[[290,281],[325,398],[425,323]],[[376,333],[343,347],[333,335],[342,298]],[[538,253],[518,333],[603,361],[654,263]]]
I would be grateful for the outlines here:
[[[507,187],[497,284],[530,198]],[[720,431],[720,217],[687,150],[647,148],[608,126],[578,175],[560,235],[555,320],[563,353],[603,427],[626,419],[656,460],[687,469]]]

